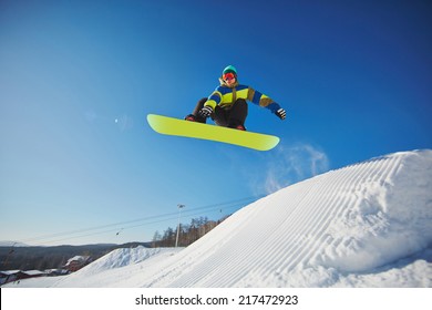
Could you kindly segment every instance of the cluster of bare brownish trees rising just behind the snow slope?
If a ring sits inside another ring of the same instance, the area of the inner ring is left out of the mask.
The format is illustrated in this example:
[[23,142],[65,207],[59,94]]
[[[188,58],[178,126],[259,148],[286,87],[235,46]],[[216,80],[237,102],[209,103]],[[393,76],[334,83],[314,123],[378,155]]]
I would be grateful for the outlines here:
[[206,235],[217,225],[223,223],[227,217],[228,216],[223,217],[218,220],[209,220],[207,217],[198,217],[198,218],[193,218],[191,220],[191,224],[181,224],[178,227],[175,228],[168,227],[163,231],[163,234],[156,230],[156,232],[153,236],[151,245],[154,248],[175,247],[176,239],[177,239],[177,228],[179,228],[178,247],[187,247],[188,245],[192,245],[200,237]]

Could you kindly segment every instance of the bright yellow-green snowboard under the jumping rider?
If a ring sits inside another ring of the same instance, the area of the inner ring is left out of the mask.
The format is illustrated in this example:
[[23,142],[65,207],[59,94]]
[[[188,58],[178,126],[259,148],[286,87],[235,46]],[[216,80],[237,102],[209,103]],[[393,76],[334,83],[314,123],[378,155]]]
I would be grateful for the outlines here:
[[189,122],[156,114],[148,114],[147,122],[160,134],[228,143],[258,151],[269,151],[279,143],[279,137],[274,135]]

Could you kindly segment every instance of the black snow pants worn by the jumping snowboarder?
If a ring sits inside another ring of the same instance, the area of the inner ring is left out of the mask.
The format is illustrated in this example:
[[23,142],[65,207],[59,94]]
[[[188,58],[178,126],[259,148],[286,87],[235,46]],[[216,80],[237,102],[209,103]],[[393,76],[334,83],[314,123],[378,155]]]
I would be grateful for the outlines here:
[[[199,111],[204,107],[206,101],[206,97],[199,100],[195,106],[194,112],[192,113],[199,123],[206,122],[206,118],[199,116]],[[216,105],[216,108],[212,113],[210,117],[218,126],[233,128],[238,125],[244,126],[247,117],[247,102],[244,99],[237,99],[229,110],[225,110]]]

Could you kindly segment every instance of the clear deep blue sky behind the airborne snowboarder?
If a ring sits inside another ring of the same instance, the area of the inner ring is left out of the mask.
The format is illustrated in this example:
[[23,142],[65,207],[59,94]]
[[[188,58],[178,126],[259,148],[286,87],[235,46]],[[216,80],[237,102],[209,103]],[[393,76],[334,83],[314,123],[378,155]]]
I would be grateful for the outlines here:
[[[432,147],[430,1],[0,2],[0,240],[151,240],[278,188]],[[162,136],[233,64],[256,152]],[[119,232],[119,234],[117,234]]]

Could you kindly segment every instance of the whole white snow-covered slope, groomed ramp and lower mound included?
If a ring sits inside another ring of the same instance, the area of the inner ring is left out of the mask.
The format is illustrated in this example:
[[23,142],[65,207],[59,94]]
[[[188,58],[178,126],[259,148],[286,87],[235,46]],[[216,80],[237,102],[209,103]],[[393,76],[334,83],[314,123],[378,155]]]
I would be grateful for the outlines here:
[[117,249],[22,287],[432,287],[432,151],[331,170],[185,249]]

